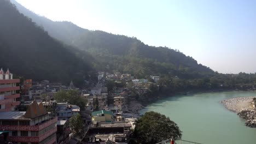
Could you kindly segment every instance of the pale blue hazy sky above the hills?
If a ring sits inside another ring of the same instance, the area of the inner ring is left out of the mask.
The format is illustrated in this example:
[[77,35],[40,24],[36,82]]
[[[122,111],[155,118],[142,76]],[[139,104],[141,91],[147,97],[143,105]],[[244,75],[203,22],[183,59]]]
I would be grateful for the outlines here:
[[16,0],[53,21],[167,46],[219,73],[256,72],[254,0]]

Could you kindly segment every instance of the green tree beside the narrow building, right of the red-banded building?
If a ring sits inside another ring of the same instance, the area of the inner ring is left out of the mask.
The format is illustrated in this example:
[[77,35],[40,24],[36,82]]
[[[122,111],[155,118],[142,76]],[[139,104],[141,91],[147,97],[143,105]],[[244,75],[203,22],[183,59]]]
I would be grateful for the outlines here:
[[83,118],[79,113],[77,115],[73,115],[69,119],[69,126],[73,131],[74,136],[83,136],[84,134]]

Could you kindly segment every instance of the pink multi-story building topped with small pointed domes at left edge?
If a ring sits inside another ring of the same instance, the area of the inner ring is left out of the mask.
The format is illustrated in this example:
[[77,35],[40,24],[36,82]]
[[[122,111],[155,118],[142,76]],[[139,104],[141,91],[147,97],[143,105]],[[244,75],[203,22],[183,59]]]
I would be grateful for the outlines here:
[[0,70],[0,112],[1,111],[15,111],[16,106],[20,105],[20,79],[13,79],[13,74],[9,69],[4,73],[3,69]]

